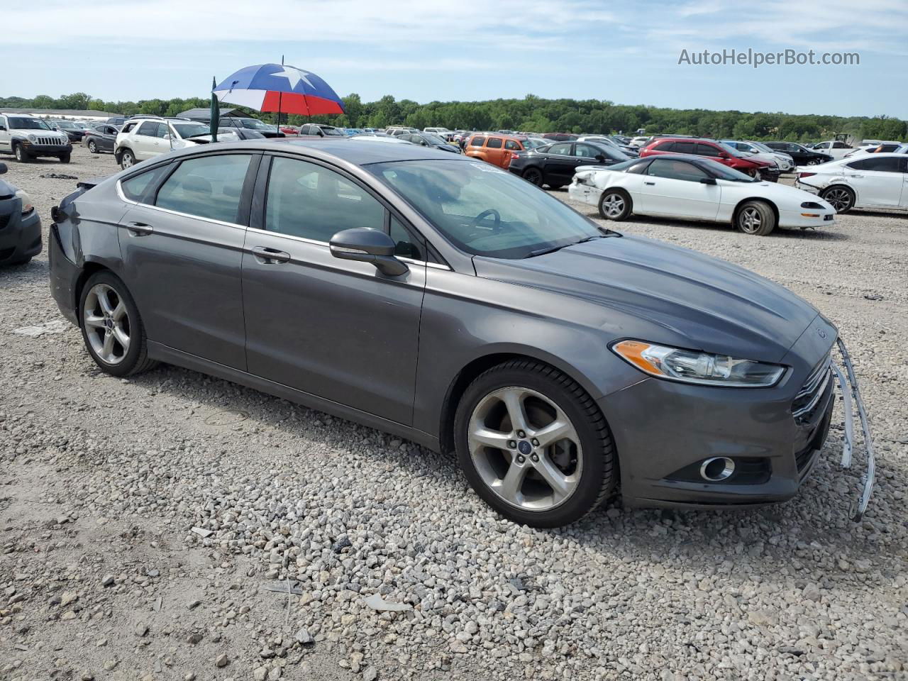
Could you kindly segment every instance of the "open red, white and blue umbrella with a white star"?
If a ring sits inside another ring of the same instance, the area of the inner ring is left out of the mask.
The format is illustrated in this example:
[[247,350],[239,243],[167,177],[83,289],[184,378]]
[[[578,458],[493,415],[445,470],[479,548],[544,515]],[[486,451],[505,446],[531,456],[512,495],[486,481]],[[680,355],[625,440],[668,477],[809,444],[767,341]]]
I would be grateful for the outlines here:
[[343,114],[343,102],[319,76],[285,64],[246,66],[212,90],[222,102],[262,112]]

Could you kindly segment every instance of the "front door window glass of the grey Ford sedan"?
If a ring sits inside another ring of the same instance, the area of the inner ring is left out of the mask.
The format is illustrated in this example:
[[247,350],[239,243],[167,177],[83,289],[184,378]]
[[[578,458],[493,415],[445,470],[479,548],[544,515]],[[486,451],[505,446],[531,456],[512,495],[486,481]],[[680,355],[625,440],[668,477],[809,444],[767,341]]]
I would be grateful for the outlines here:
[[317,242],[341,230],[371,227],[384,231],[385,209],[360,185],[339,173],[296,159],[271,161],[265,229]]

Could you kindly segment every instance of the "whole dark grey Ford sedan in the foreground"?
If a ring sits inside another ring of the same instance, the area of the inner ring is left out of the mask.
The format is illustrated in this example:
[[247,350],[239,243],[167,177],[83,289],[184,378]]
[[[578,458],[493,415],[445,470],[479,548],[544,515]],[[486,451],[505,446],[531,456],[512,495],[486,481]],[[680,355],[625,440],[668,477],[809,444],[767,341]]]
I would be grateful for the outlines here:
[[169,153],[83,183],[50,242],[54,298],[107,373],[167,362],[454,450],[477,494],[528,525],[616,489],[638,506],[792,498],[840,352],[865,423],[809,303],[413,144]]

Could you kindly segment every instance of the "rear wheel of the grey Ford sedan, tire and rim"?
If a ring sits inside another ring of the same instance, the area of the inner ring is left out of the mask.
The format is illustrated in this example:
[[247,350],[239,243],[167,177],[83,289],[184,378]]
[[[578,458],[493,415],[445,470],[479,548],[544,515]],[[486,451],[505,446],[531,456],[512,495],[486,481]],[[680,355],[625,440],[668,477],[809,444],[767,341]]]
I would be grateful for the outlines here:
[[95,272],[79,299],[79,325],[88,354],[105,373],[132,376],[152,369],[139,309],[123,281]]

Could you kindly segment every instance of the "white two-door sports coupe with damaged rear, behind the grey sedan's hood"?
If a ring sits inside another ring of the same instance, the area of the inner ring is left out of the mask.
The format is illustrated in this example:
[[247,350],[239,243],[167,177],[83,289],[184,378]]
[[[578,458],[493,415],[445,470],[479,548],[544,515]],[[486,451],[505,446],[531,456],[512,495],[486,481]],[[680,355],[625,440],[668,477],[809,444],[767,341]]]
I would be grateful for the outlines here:
[[704,156],[646,156],[606,167],[581,165],[568,186],[574,201],[597,206],[606,220],[631,213],[727,222],[764,236],[775,227],[829,226],[833,207],[785,184],[754,180]]

